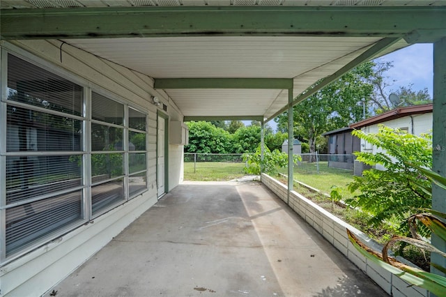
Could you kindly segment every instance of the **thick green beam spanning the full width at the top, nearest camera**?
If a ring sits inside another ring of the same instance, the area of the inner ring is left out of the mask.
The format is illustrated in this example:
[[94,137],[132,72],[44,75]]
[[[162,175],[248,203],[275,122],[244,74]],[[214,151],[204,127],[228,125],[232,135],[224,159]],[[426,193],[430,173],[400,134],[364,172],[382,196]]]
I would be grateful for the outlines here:
[[[4,9],[1,38],[445,36],[446,7],[171,6]],[[432,35],[432,34],[431,34]],[[436,35],[436,34],[433,34]]]

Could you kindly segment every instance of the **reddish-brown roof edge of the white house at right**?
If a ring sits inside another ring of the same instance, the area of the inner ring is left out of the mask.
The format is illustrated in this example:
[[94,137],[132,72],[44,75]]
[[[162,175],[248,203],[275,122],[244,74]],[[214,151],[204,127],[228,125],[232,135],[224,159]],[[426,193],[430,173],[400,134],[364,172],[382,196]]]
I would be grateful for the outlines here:
[[352,129],[360,129],[367,125],[374,125],[378,123],[383,123],[385,121],[390,121],[393,119],[398,119],[403,116],[411,116],[413,114],[427,114],[432,112],[432,104],[424,105],[413,105],[408,107],[399,107],[397,109],[392,109],[383,114],[378,114],[377,116],[372,116],[369,119],[359,121],[350,125]]

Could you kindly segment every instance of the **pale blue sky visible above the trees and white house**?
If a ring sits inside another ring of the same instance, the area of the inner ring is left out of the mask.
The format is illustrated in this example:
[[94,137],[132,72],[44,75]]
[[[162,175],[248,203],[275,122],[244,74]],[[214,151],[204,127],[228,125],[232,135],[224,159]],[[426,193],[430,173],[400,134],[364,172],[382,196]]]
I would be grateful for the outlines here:
[[[391,85],[387,87],[387,93],[397,91],[400,86],[413,84],[413,91],[427,88],[432,98],[433,92],[433,45],[431,43],[420,43],[410,45],[402,50],[397,50],[382,56],[376,61],[391,61],[393,67],[385,75],[387,82]],[[392,80],[394,82],[392,82]],[[250,121],[244,121],[249,125]],[[269,121],[268,124],[276,130],[277,123]]]

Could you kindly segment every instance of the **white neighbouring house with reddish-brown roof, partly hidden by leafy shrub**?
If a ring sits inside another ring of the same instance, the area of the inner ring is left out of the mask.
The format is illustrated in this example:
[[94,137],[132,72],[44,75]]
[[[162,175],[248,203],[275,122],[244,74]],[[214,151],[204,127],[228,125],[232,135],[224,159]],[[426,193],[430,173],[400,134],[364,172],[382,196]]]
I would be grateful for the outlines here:
[[[432,104],[413,105],[392,109],[389,112],[372,116],[369,119],[359,121],[350,125],[350,128],[362,130],[367,133],[378,132],[378,125],[386,125],[390,128],[398,128],[413,135],[428,133],[432,129]],[[378,153],[382,150],[372,146],[361,139],[360,151]],[[384,169],[376,165],[376,169]]]

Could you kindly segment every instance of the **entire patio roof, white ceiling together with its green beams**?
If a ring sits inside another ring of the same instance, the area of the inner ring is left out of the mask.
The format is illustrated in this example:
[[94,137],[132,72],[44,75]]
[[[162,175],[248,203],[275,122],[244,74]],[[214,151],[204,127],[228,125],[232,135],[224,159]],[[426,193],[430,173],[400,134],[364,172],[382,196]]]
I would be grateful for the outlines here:
[[269,121],[364,61],[446,36],[445,0],[0,5],[2,40],[44,39],[147,75],[150,95],[168,98],[185,120]]

